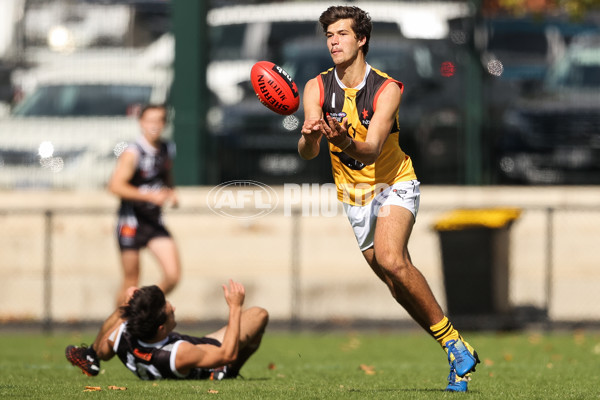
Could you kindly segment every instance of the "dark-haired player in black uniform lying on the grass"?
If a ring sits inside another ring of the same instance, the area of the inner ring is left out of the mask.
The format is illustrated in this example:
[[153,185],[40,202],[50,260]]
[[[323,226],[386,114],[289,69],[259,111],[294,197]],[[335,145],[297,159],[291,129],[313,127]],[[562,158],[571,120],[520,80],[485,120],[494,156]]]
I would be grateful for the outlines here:
[[104,322],[92,346],[67,346],[67,360],[89,376],[98,375],[100,360],[116,355],[144,380],[235,378],[258,349],[269,315],[260,307],[242,310],[242,284],[230,280],[223,291],[228,324],[193,337],[173,331],[175,307],[158,286],[132,287],[128,300]]

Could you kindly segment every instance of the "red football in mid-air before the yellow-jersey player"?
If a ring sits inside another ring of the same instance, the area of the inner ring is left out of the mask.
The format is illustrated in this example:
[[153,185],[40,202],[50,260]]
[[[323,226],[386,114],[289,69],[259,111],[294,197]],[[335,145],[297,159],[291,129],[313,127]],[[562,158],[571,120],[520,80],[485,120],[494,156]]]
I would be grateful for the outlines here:
[[250,71],[250,80],[256,96],[277,114],[290,115],[300,105],[300,95],[294,80],[279,65],[259,61]]

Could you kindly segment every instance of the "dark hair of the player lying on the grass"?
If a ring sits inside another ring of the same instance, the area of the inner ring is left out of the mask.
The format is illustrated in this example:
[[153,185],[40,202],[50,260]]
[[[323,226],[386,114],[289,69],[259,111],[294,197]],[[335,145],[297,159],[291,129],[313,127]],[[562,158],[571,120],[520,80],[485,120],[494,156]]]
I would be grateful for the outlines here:
[[165,295],[156,285],[144,286],[133,293],[121,307],[121,318],[127,320],[127,331],[135,338],[151,340],[158,327],[167,321]]

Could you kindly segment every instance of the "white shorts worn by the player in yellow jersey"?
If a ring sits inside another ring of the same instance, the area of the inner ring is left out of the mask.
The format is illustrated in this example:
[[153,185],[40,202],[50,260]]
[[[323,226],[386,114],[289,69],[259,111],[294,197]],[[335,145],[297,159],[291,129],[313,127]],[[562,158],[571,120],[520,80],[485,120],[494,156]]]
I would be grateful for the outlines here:
[[384,189],[367,205],[353,206],[343,203],[361,251],[373,247],[375,224],[381,206],[404,207],[413,214],[415,220],[417,219],[421,198],[420,185],[417,180],[398,182]]

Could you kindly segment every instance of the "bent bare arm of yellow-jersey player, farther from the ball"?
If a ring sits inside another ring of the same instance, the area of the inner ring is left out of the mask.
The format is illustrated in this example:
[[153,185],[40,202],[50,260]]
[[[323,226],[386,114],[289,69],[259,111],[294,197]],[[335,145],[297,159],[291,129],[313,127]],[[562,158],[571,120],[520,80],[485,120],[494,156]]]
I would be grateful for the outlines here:
[[373,164],[385,143],[392,124],[396,118],[402,91],[395,84],[387,85],[375,104],[375,113],[369,124],[367,139],[364,142],[352,140],[348,135],[346,121],[338,123],[337,120],[327,116],[321,121],[321,129],[327,140],[342,149],[350,157],[363,164]]

